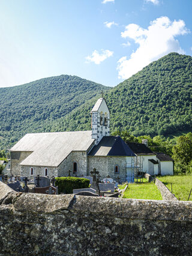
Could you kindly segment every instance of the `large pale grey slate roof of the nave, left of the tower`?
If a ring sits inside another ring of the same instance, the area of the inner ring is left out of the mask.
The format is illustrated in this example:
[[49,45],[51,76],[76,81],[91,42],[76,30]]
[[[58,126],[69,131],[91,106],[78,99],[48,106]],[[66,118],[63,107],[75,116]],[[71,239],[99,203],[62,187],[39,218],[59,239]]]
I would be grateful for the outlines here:
[[86,151],[94,142],[85,132],[28,133],[10,151],[31,151],[20,165],[59,166],[71,151]]

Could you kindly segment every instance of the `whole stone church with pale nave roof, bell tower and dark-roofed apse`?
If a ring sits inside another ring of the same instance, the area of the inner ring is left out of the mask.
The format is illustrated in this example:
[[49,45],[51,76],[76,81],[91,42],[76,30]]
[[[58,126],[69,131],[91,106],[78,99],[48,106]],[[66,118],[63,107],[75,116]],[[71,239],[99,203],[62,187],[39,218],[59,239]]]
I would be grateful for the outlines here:
[[10,149],[10,172],[83,177],[96,168],[101,179],[134,181],[136,154],[119,136],[110,136],[110,111],[104,98],[91,111],[91,130],[80,132],[28,133]]

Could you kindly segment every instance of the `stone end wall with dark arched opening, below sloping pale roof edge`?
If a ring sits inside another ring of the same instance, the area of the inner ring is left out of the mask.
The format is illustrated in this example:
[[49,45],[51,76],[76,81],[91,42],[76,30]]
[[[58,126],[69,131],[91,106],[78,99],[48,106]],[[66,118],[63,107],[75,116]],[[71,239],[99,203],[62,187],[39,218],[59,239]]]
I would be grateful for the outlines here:
[[[77,172],[73,173],[73,163],[77,163]],[[68,176],[68,171],[71,171],[71,176],[77,177],[86,176],[87,174],[87,154],[86,151],[73,151],[68,155],[61,165],[58,166],[58,176]]]

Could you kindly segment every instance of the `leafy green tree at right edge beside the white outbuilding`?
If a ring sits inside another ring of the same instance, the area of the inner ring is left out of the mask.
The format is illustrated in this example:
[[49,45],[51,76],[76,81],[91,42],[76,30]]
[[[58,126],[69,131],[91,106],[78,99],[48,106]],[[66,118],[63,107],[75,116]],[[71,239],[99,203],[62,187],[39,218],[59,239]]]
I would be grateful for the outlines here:
[[173,146],[173,159],[175,160],[176,173],[192,173],[192,133],[180,136]]

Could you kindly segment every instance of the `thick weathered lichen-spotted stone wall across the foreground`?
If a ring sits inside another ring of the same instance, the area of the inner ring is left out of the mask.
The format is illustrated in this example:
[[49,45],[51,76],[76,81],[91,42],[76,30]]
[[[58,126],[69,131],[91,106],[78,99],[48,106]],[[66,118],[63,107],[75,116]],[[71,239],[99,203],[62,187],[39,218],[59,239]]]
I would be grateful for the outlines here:
[[191,255],[191,202],[23,194],[5,186],[1,255]]

